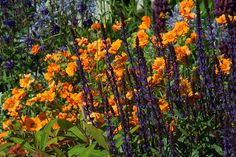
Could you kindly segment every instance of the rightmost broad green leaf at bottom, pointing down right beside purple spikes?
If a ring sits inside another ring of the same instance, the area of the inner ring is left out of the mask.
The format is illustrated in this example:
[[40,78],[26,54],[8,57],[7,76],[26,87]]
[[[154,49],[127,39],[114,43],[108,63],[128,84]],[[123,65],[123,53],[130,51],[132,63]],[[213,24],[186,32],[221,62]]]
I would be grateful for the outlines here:
[[88,134],[91,135],[98,142],[100,146],[108,150],[106,139],[103,136],[104,131],[94,127],[92,124],[85,123],[85,127]]

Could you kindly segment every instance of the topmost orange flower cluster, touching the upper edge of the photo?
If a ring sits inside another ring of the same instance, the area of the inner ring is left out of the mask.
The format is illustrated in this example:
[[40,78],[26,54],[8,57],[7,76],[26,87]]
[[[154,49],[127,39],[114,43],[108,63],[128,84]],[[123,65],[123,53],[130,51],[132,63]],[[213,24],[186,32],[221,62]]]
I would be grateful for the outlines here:
[[193,0],[183,0],[179,6],[179,12],[186,19],[195,18],[195,13],[192,13],[192,9],[194,8]]

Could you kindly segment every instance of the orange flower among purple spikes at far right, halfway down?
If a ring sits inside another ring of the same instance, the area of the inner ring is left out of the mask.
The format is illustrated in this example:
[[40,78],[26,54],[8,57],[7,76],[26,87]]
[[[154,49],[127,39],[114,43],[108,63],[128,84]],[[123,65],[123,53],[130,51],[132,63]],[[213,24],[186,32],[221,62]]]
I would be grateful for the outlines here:
[[[223,74],[229,74],[232,61],[229,58],[224,58],[224,55],[218,56],[218,61],[219,61],[220,71]],[[219,69],[216,68],[215,73],[218,74],[218,72],[219,72]]]

